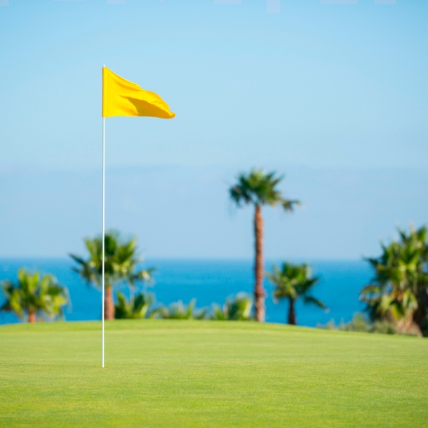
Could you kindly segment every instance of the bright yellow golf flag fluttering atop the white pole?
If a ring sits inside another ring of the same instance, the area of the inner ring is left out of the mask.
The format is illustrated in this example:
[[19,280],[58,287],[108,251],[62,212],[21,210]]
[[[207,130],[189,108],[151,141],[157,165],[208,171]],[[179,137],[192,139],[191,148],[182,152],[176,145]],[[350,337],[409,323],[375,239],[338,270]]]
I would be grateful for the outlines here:
[[102,68],[102,117],[151,116],[173,119],[169,105],[154,92]]

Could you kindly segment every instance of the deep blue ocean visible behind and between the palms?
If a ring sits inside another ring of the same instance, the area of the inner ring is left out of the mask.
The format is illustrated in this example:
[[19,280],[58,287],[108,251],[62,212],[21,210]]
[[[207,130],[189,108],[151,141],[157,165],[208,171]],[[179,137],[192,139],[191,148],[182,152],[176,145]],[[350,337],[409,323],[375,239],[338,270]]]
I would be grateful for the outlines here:
[[[367,262],[313,261],[312,273],[319,276],[313,294],[321,299],[328,311],[299,302],[296,307],[300,326],[316,326],[334,319],[336,323],[349,321],[355,312],[363,309],[359,291],[370,281],[372,272]],[[0,259],[0,279],[16,279],[20,267],[39,269],[55,275],[69,289],[71,305],[65,309],[67,321],[98,320],[101,316],[101,293],[81,281],[72,271],[73,262],[67,259]],[[222,305],[226,297],[240,291],[253,290],[253,262],[250,260],[147,260],[145,267],[155,267],[154,285],[145,289],[156,296],[158,304],[168,305],[182,300],[187,304],[196,299],[196,307]],[[266,269],[272,262],[266,263]],[[272,300],[272,286],[265,281],[267,290],[266,317],[268,322],[285,323],[288,307],[286,302]],[[118,288],[120,290],[120,288]],[[122,288],[126,292],[126,288]],[[3,297],[0,297],[0,305]],[[20,320],[11,313],[0,312],[0,323],[16,323]]]

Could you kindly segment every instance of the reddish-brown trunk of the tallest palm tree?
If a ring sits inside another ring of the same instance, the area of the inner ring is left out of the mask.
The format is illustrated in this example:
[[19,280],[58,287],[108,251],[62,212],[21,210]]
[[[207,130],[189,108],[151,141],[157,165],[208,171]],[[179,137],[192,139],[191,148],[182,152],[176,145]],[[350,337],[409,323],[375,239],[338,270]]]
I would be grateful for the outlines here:
[[255,206],[254,213],[254,237],[255,237],[255,286],[254,286],[254,302],[255,302],[255,320],[265,321],[265,290],[263,290],[263,218],[262,208],[259,205]]

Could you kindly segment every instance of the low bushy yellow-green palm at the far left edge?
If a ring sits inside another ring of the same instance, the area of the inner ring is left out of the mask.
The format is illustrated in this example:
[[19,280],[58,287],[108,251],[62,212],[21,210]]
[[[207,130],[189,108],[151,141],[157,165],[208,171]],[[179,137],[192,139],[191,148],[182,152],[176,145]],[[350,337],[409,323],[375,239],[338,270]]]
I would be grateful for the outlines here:
[[1,311],[11,311],[29,323],[36,322],[37,316],[55,319],[62,316],[62,307],[69,302],[67,288],[60,286],[55,276],[39,272],[18,270],[18,283],[7,280],[1,283],[6,302]]

